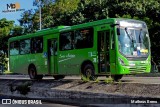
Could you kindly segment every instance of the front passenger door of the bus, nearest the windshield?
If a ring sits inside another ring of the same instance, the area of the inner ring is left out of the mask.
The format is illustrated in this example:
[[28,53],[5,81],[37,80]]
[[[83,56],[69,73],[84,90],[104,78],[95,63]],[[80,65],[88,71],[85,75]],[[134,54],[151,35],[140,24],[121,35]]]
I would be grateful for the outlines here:
[[115,71],[115,37],[110,24],[96,27],[98,50],[98,73],[109,74]]

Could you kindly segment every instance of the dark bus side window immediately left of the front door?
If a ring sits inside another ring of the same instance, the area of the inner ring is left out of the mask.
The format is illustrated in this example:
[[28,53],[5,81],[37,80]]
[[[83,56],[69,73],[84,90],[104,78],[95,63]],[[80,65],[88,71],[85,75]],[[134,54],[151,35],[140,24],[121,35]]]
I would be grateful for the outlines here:
[[74,42],[76,49],[93,47],[93,28],[76,30]]

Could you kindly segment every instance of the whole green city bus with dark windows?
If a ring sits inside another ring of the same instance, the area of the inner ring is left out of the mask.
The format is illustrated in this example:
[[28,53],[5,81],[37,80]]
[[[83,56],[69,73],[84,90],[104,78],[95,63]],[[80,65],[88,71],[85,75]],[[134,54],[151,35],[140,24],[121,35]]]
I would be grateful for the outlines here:
[[143,21],[109,18],[59,26],[9,39],[10,72],[31,79],[81,75],[95,80],[149,73],[150,39]]

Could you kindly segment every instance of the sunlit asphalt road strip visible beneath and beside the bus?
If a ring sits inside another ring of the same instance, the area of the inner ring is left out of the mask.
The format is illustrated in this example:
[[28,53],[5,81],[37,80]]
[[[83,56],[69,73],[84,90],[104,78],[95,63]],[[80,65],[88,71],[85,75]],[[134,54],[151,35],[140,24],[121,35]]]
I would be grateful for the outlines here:
[[[0,79],[17,79],[17,80],[29,80],[28,75],[0,75]],[[45,76],[43,79],[54,79],[52,76]],[[80,76],[66,76],[66,80],[80,80]],[[99,80],[105,80],[106,77],[98,77]],[[121,79],[123,83],[143,83],[143,84],[160,84],[160,77],[136,77],[136,76],[124,76]]]

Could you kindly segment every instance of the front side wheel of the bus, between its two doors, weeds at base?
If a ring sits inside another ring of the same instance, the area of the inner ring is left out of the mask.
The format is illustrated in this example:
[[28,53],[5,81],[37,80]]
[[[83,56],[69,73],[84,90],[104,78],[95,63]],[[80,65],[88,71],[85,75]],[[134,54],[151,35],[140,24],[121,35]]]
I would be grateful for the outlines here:
[[97,76],[95,76],[95,72],[94,72],[94,67],[91,64],[87,64],[83,71],[82,74],[85,78],[88,78],[91,81],[95,81],[97,79]]

